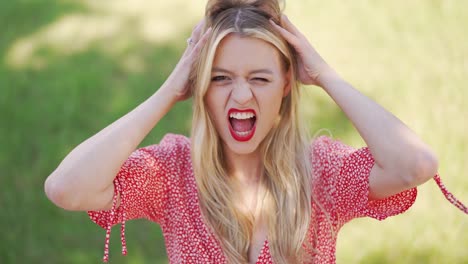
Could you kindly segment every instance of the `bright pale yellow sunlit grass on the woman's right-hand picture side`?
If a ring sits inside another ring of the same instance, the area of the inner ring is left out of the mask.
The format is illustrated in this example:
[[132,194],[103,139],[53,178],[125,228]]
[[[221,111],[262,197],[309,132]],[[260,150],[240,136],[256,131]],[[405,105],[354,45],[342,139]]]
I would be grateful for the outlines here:
[[[468,46],[463,43],[468,32],[460,25],[468,22],[468,14],[460,3],[304,1],[290,4],[290,16],[348,81],[435,149],[442,179],[466,203]],[[313,91],[315,87],[308,88],[312,91],[303,107],[328,100]],[[329,114],[325,111],[306,110],[313,113],[312,129],[330,126],[314,123]],[[331,115],[331,122],[337,115]],[[333,131],[333,126],[329,128]],[[335,136],[355,146],[363,144],[354,129],[335,130]],[[467,233],[466,215],[452,207],[431,181],[419,187],[416,204],[404,215],[346,225],[338,239],[338,262],[465,263]]]

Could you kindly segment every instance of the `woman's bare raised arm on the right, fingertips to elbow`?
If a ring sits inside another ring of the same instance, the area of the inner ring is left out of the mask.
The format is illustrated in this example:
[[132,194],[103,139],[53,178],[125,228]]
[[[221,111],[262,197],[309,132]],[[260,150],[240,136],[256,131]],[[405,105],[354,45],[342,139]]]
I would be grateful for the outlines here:
[[371,198],[415,187],[437,173],[433,151],[398,118],[344,81],[286,16],[283,27],[272,24],[299,55],[300,81],[322,87],[368,145],[375,160],[369,179]]

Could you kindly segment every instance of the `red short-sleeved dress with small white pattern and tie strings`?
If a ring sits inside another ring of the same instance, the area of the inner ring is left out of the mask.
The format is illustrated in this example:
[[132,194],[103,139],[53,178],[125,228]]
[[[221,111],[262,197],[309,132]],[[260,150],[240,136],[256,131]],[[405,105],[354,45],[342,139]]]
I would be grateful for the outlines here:
[[[369,174],[374,159],[367,147],[353,149],[326,136],[311,145],[313,165],[310,228],[315,232],[314,263],[335,263],[336,236],[356,217],[383,220],[406,211],[416,199],[416,188],[383,200],[369,200]],[[436,180],[440,180],[436,176]],[[440,181],[439,186],[443,188]],[[168,134],[157,145],[134,151],[114,180],[114,204],[109,211],[89,211],[90,218],[105,228],[104,261],[108,260],[111,226],[121,223],[122,253],[126,254],[125,221],[146,218],[161,226],[171,263],[225,263],[221,247],[204,224],[193,174],[190,140]],[[457,203],[445,189],[444,194]],[[121,205],[115,208],[116,194]],[[460,209],[466,207],[458,204]],[[326,214],[321,210],[323,208]],[[329,219],[327,219],[327,216]],[[311,234],[314,232],[310,232]],[[272,263],[265,240],[257,263]]]

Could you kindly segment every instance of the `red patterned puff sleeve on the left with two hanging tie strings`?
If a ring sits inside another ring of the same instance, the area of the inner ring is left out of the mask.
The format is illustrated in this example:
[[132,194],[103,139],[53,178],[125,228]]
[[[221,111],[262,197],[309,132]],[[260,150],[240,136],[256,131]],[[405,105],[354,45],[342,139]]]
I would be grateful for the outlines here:
[[[126,255],[125,222],[146,218],[164,223],[167,197],[170,190],[167,175],[174,173],[178,157],[177,145],[186,138],[166,135],[158,145],[135,150],[121,166],[114,183],[112,208],[106,211],[88,211],[90,219],[106,229],[104,262],[109,259],[111,227],[121,224],[122,254]],[[179,144],[180,145],[180,144]],[[120,205],[117,207],[117,201]]]

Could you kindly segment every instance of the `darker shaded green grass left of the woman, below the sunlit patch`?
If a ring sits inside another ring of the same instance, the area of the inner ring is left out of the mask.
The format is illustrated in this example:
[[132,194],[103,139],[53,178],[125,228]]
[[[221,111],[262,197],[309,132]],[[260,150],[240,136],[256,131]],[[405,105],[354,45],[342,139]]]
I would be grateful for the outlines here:
[[[8,13],[13,28],[2,34],[1,54],[15,39],[69,11],[84,10],[77,5],[47,5],[44,1],[40,5],[8,5],[8,12],[2,12]],[[32,14],[36,16],[30,17]],[[20,24],[14,24],[19,20]],[[174,43],[155,45],[135,39],[125,55],[129,53],[140,58],[145,67],[129,70],[121,63],[124,58],[109,55],[102,43],[71,55],[41,47],[35,51],[47,62],[41,67],[18,69],[2,61],[0,224],[7,228],[0,231],[1,263],[93,263],[101,259],[104,230],[85,213],[55,207],[46,199],[43,183],[75,146],[153,94],[182,50]],[[190,102],[178,104],[141,145],[157,143],[168,132],[188,134],[190,111]],[[129,250],[136,254],[118,257],[120,241],[114,228],[113,263],[137,258],[143,263],[158,259],[165,262],[159,227],[139,220],[128,227]]]

